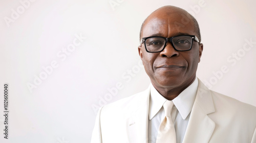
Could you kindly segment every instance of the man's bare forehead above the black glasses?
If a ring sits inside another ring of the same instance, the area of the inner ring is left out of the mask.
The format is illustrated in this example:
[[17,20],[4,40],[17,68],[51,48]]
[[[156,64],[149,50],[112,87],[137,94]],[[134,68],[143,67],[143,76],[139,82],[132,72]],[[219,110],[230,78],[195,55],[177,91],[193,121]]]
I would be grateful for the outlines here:
[[194,21],[187,14],[175,12],[153,14],[144,23],[142,37],[173,37],[179,33],[195,35]]

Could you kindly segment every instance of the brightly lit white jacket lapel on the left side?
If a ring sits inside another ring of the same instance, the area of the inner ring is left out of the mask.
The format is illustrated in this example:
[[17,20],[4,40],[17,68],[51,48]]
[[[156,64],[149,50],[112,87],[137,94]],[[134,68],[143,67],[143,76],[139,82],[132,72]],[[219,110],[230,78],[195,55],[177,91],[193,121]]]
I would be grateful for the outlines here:
[[133,105],[133,107],[136,108],[132,110],[133,112],[131,113],[131,116],[127,118],[127,136],[129,138],[129,142],[146,143],[150,87],[140,94],[141,97],[138,100],[138,103]]

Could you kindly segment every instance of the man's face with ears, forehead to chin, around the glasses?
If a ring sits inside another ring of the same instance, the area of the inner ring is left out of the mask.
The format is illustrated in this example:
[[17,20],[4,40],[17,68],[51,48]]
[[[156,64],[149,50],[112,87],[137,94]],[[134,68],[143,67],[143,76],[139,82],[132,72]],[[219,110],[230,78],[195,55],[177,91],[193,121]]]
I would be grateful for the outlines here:
[[[168,10],[165,12],[160,10],[151,14],[144,23],[142,37],[196,35],[193,20],[184,24],[181,13],[184,11]],[[177,88],[179,90],[179,88],[190,85],[196,78],[203,44],[194,40],[191,50],[176,51],[172,44],[167,42],[162,52],[147,53],[144,43],[142,43],[138,50],[145,71],[155,88]]]

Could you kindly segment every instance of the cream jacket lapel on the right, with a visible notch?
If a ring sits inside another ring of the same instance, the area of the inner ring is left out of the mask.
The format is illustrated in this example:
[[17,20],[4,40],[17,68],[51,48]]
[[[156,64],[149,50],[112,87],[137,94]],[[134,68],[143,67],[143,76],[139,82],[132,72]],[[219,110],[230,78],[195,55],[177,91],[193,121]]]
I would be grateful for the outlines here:
[[215,122],[208,114],[215,112],[210,90],[199,80],[195,103],[190,113],[183,143],[208,142],[215,129]]

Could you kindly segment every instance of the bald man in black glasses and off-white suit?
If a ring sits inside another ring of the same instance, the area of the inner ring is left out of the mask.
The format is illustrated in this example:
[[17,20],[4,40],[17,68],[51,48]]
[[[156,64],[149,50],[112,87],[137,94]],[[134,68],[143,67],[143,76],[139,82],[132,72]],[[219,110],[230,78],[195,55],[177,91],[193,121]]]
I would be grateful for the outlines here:
[[165,6],[142,24],[139,56],[147,90],[102,107],[92,142],[256,142],[256,107],[196,78],[203,51],[196,19]]

